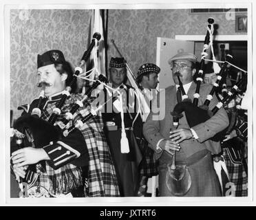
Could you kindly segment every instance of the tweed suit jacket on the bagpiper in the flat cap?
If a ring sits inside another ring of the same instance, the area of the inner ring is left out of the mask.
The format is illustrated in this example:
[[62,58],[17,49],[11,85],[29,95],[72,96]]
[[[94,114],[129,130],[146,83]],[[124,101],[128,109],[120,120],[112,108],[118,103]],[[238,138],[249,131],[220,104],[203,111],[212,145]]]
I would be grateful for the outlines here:
[[[196,84],[193,82],[187,93],[191,100],[193,100],[195,88]],[[198,106],[204,104],[206,96],[209,95],[211,88],[211,85],[201,85]],[[156,151],[156,158],[159,158],[162,155],[162,151],[156,150],[156,145],[159,140],[169,140],[169,132],[175,130],[175,127],[173,126],[173,116],[171,115],[171,111],[173,111],[175,104],[177,104],[175,86],[160,91],[158,98],[153,101],[151,113],[149,113],[149,117],[143,126],[143,134],[149,142],[149,146]],[[213,96],[209,109],[213,109],[216,104],[217,98]],[[164,116],[162,116],[163,113]],[[183,117],[180,118],[177,129],[189,128],[189,124],[186,122],[186,116],[184,113],[182,114]],[[228,123],[228,115],[226,114],[226,111],[221,108],[212,118],[206,120],[206,122],[193,126],[192,129],[197,133],[198,140],[190,139],[180,143],[182,151],[186,157],[190,157],[194,153],[202,151],[205,148],[213,154],[220,153],[220,142],[213,142],[209,139],[216,133],[225,129],[226,126],[228,126]]]

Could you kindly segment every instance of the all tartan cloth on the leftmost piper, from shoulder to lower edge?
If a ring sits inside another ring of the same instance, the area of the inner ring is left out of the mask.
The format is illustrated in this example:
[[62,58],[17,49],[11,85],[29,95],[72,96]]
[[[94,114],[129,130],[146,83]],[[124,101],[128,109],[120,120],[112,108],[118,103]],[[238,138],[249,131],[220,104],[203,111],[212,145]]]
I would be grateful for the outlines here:
[[[70,106],[77,99],[81,100],[83,96],[72,94],[72,96],[66,100],[64,106],[61,109],[61,115],[58,115],[56,122],[60,121],[64,117],[65,112],[69,111]],[[73,115],[73,120],[70,121],[69,126],[76,123],[77,120],[81,120],[85,115],[90,112],[90,103],[92,99],[89,99],[87,104],[83,108],[78,109]],[[42,116],[43,120],[48,120],[52,114],[52,110],[56,107],[58,101],[48,102],[45,109],[43,109]],[[116,171],[114,169],[111,155],[109,153],[109,147],[103,133],[103,122],[100,116],[89,119],[83,127],[80,128],[85,142],[87,144],[89,153],[89,173],[88,173],[88,186],[85,191],[89,197],[118,197],[119,189],[118,182],[116,179]],[[61,169],[61,170],[60,170]],[[79,169],[72,165],[67,164],[60,169],[53,170],[46,163],[46,170],[50,171],[50,178],[53,178],[65,173],[72,173],[74,171],[75,182],[81,183],[81,175],[78,173]]]

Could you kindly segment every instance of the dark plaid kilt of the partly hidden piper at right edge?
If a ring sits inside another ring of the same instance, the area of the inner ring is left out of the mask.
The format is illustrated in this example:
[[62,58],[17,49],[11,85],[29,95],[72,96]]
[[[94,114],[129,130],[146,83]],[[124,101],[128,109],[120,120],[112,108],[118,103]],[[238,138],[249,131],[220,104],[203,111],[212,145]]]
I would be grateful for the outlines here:
[[235,184],[235,197],[248,196],[248,179],[243,164],[235,164],[231,161],[226,148],[222,149],[226,162],[230,181]]

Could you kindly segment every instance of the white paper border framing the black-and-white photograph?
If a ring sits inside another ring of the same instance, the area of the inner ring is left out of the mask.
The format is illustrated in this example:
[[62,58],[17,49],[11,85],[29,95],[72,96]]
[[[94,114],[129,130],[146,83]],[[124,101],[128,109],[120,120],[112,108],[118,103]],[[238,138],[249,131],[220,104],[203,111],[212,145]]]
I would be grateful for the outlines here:
[[[225,204],[231,204],[235,206],[236,203],[248,203],[253,201],[253,170],[255,170],[255,163],[253,163],[253,118],[255,118],[255,113],[253,114],[253,106],[250,110],[248,110],[248,197],[239,198],[239,197],[211,197],[211,198],[180,198],[180,197],[116,197],[116,198],[72,198],[72,199],[14,199],[10,198],[10,164],[9,164],[9,155],[10,155],[10,10],[11,9],[21,9],[21,7],[27,7],[28,9],[80,9],[80,10],[90,10],[90,9],[184,9],[184,8],[248,8],[247,16],[248,16],[248,91],[250,92],[250,96],[253,94],[253,85],[255,85],[255,77],[253,78],[253,52],[255,50],[255,44],[253,48],[253,11],[255,12],[255,5],[250,3],[250,1],[246,3],[237,3],[237,1],[233,1],[233,3],[221,3],[213,4],[213,3],[187,3],[188,1],[177,1],[179,3],[131,3],[131,4],[84,4],[83,1],[77,1],[78,3],[61,3],[61,1],[36,1],[38,3],[34,4],[32,1],[26,1],[28,3],[23,3],[21,5],[20,1],[4,1],[3,5],[1,5],[1,9],[3,13],[3,35],[1,36],[1,43],[3,43],[3,49],[1,57],[1,66],[4,69],[4,74],[1,74],[1,81],[3,82],[3,86],[1,87],[1,103],[5,103],[5,109],[1,108],[1,115],[5,115],[3,118],[4,128],[2,133],[4,133],[4,137],[1,138],[1,143],[3,141],[1,148],[1,158],[0,166],[1,166],[1,174],[3,182],[1,181],[0,187],[1,190],[1,199],[4,197],[3,203],[8,205],[25,205],[25,206],[37,206],[40,204],[51,204],[51,206],[58,205],[69,205],[69,206],[189,206],[204,204],[208,205],[217,205],[220,206]],[[25,1],[24,1],[25,2]],[[31,2],[31,3],[30,3]],[[56,2],[56,3],[55,3]],[[62,1],[63,2],[63,1]],[[131,2],[131,1],[129,1]],[[137,1],[138,2],[138,1]],[[228,2],[228,1],[227,1]],[[255,25],[255,24],[254,24]],[[3,39],[2,39],[3,38]],[[253,104],[253,98],[252,98]],[[2,152],[3,151],[3,152]],[[255,159],[255,158],[254,158]],[[254,166],[254,169],[253,169]],[[3,175],[4,174],[4,175]],[[25,203],[24,203],[25,202]]]

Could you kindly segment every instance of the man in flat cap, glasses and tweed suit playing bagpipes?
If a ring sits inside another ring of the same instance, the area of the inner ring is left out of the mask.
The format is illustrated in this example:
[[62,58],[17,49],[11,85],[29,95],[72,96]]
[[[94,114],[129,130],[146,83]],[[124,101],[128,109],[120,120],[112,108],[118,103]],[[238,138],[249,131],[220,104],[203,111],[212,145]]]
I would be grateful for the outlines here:
[[[215,115],[206,122],[189,127],[186,116],[180,118],[178,128],[173,126],[173,116],[171,111],[175,104],[180,102],[181,95],[178,89],[179,74],[184,91],[191,100],[195,94],[196,84],[193,82],[195,75],[195,62],[197,58],[194,54],[182,52],[169,59],[173,81],[175,85],[167,87],[163,92],[164,96],[158,96],[152,105],[151,113],[143,127],[143,133],[149,142],[149,146],[155,151],[159,158],[159,190],[160,196],[173,196],[173,185],[171,184],[171,164],[175,152],[175,164],[184,165],[191,175],[191,187],[183,194],[185,197],[215,197],[220,196],[220,188],[215,170],[213,169],[212,154],[220,153],[220,142],[211,141],[216,133],[228,126],[228,116],[224,109],[217,111]],[[176,74],[178,72],[178,74]],[[204,103],[206,96],[211,91],[212,86],[202,85],[200,87],[200,98],[198,106]],[[160,97],[160,98],[159,98]],[[164,100],[161,100],[164,99]],[[165,105],[160,104],[165,102]],[[213,97],[209,109],[213,109],[217,104],[217,98]],[[164,106],[164,109],[162,108]],[[158,120],[160,108],[164,112],[164,118]],[[186,173],[187,174],[187,173]]]

